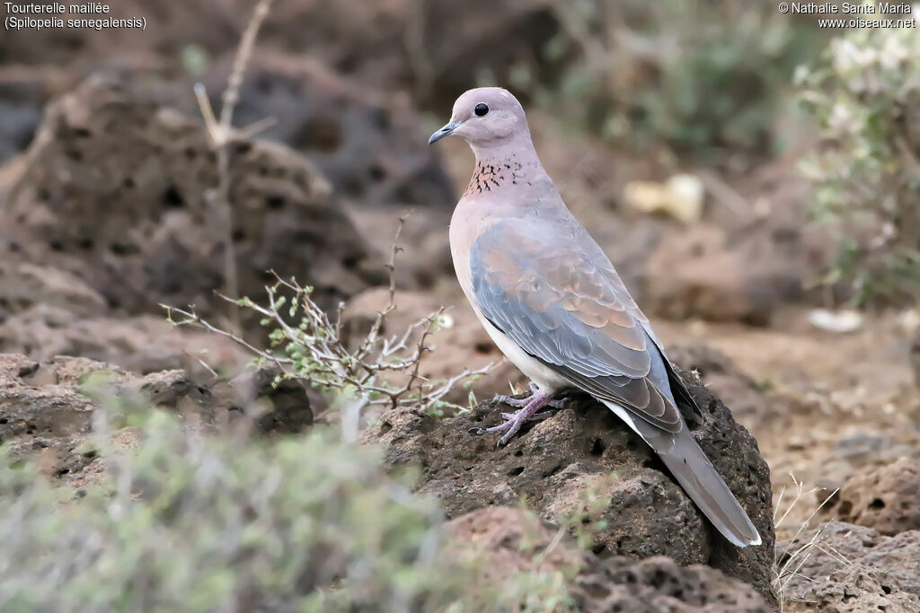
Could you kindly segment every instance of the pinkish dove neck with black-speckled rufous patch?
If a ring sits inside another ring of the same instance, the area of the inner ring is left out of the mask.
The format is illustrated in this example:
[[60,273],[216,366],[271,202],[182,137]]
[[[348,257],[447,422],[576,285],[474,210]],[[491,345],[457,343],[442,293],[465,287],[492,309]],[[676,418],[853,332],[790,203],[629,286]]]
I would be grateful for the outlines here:
[[505,189],[523,192],[545,187],[547,183],[551,185],[552,181],[540,164],[534,145],[530,142],[521,144],[524,146],[474,147],[476,169],[464,198],[477,198]]

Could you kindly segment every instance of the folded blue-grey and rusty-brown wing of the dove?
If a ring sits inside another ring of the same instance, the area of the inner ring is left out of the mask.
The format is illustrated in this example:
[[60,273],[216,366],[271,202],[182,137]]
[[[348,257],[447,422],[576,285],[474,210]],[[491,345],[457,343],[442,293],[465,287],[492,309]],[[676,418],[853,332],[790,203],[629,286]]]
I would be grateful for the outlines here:
[[577,221],[500,221],[472,245],[470,274],[479,310],[526,353],[600,400],[667,432],[681,430],[672,379],[679,396],[683,383]]

